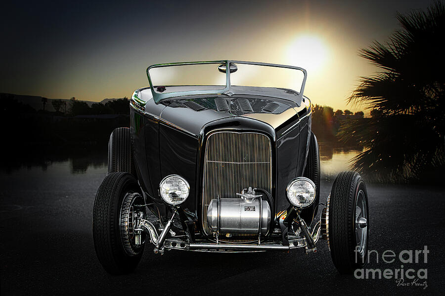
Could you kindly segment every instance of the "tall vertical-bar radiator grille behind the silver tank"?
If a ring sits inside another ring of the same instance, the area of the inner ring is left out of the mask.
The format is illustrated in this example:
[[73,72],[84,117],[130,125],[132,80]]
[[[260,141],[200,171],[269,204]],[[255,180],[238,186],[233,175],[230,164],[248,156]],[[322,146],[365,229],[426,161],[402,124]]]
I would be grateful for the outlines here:
[[207,208],[212,199],[235,198],[247,186],[272,188],[272,148],[258,133],[217,132],[207,139],[204,153],[202,224],[206,234]]

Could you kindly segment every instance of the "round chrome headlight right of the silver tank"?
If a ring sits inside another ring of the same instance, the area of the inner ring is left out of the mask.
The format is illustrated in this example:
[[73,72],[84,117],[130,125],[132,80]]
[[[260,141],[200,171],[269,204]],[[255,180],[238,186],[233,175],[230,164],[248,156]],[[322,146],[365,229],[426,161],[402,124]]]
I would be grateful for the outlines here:
[[309,207],[315,200],[316,187],[313,182],[305,177],[292,180],[286,188],[289,202],[299,208]]

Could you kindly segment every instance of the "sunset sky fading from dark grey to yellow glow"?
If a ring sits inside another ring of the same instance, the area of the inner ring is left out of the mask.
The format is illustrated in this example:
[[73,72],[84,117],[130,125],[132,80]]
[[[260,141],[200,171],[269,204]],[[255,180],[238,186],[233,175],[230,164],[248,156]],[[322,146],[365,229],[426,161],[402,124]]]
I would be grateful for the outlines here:
[[314,104],[357,110],[345,99],[376,70],[359,49],[400,29],[397,11],[433,1],[8,2],[0,92],[130,97],[148,65],[233,59],[306,68]]

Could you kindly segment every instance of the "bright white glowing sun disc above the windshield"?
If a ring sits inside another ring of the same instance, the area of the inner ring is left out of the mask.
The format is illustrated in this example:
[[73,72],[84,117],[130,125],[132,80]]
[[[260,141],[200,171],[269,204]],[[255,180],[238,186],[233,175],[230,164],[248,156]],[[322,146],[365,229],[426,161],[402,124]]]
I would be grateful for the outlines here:
[[299,35],[288,46],[287,60],[291,65],[302,67],[310,73],[325,66],[328,49],[323,40],[315,35]]

